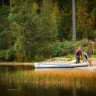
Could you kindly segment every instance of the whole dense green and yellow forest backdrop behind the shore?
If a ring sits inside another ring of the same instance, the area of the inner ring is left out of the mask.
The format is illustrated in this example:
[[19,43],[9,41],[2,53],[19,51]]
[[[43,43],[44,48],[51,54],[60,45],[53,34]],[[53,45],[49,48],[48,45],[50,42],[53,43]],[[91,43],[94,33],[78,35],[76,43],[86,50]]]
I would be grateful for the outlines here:
[[[75,5],[76,41],[84,45],[96,39],[96,0]],[[0,61],[74,54],[72,34],[72,0],[0,0]]]

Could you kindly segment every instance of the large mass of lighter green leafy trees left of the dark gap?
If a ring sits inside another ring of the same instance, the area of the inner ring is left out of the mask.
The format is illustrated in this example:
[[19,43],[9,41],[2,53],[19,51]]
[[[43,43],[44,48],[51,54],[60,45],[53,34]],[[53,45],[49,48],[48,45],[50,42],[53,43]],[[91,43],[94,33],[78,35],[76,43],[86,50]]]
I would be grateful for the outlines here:
[[[48,57],[50,45],[57,38],[58,7],[51,1],[39,6],[36,2],[14,3],[9,19],[12,20],[12,35],[16,38],[14,48],[18,61]],[[18,6],[18,7],[17,7]],[[51,17],[51,18],[50,18]]]

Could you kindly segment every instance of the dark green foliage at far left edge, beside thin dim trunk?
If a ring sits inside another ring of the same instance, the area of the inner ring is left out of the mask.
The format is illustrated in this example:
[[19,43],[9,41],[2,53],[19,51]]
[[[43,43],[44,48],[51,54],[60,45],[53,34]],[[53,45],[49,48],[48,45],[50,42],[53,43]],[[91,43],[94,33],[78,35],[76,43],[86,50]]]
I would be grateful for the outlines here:
[[9,22],[8,22],[9,6],[0,7],[0,50],[9,47]]

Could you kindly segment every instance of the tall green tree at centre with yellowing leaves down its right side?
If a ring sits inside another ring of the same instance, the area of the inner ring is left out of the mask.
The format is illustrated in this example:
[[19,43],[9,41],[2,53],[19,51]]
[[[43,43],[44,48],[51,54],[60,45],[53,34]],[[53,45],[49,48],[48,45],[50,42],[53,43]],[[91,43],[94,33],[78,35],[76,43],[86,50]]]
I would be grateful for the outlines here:
[[41,6],[39,31],[39,48],[45,56],[49,54],[50,45],[57,40],[59,10],[56,4],[53,5],[51,0],[44,1]]

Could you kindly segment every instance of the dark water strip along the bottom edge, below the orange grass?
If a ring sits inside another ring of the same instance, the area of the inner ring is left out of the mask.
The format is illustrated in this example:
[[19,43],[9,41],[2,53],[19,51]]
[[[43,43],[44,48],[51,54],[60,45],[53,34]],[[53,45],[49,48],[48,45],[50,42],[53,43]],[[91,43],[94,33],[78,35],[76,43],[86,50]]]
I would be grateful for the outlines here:
[[96,90],[75,88],[24,88],[0,90],[0,96],[96,96]]

